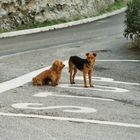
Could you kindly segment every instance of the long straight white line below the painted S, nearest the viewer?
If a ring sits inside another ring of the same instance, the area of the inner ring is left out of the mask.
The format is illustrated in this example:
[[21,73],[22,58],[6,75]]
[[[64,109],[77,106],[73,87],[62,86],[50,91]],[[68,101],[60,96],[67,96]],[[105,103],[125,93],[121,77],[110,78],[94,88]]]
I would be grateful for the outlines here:
[[79,119],[79,118],[43,116],[43,115],[34,115],[34,114],[15,114],[15,113],[4,113],[4,112],[0,112],[0,116],[19,117],[19,118],[36,118],[36,119],[57,120],[57,121],[70,121],[70,122],[91,123],[91,124],[110,125],[110,126],[139,128],[140,129],[140,124],[100,121],[100,120],[88,120],[88,119]]

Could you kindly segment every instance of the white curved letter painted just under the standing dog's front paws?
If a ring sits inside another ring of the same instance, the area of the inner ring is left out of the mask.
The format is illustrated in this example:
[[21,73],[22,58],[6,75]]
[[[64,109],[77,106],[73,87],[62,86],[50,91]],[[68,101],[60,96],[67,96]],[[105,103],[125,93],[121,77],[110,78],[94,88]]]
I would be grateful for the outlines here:
[[129,92],[127,89],[117,88],[117,87],[110,87],[110,86],[97,86],[85,88],[83,84],[60,84],[58,85],[60,88],[71,88],[71,89],[82,89],[82,90],[93,90],[93,91],[109,91],[109,92]]

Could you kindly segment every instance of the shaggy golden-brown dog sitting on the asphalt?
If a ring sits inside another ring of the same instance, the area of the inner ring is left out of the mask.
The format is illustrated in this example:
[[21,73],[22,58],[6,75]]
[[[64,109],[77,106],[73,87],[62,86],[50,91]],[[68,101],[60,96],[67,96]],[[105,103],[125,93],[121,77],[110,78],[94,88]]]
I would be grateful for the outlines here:
[[55,60],[50,69],[43,71],[32,79],[33,85],[42,86],[49,84],[49,82],[52,86],[58,85],[64,66],[61,60]]

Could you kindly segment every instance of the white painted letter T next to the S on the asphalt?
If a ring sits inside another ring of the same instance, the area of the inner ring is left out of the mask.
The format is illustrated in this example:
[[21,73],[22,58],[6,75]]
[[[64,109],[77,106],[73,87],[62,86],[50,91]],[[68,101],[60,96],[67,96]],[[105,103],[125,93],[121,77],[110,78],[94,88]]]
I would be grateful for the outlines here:
[[34,97],[48,97],[48,96],[53,96],[53,97],[64,97],[64,98],[78,98],[78,99],[91,99],[91,100],[101,100],[101,101],[114,101],[113,99],[107,99],[107,98],[97,98],[97,97],[87,97],[87,96],[72,96],[72,95],[57,95],[55,93],[51,92],[40,92],[35,95]]

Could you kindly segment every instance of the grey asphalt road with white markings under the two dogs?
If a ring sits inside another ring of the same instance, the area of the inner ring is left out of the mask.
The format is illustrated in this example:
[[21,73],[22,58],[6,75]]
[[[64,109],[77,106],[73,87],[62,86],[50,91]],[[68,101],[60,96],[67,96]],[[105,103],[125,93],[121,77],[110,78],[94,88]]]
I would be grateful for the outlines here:
[[[139,140],[140,51],[123,37],[124,13],[93,23],[0,39],[2,140]],[[69,84],[67,61],[95,51],[94,88],[82,73]],[[66,64],[57,87],[33,76],[55,59]]]

